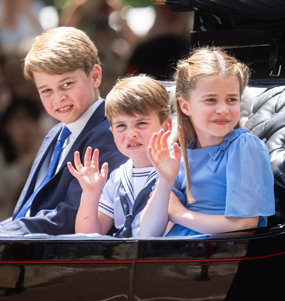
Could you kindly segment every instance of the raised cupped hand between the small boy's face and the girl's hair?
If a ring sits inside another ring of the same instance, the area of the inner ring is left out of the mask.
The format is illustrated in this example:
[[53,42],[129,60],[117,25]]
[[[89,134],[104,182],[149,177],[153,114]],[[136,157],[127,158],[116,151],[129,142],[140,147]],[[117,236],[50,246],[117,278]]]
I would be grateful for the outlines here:
[[181,160],[181,149],[177,143],[173,144],[173,155],[170,154],[167,144],[169,135],[170,131],[164,133],[163,129],[154,133],[147,148],[147,157],[163,182],[174,182]]

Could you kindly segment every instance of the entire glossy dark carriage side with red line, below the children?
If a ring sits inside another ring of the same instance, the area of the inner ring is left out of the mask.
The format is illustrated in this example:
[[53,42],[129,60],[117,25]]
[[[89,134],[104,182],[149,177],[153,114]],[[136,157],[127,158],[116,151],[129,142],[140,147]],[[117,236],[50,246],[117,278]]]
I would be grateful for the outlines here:
[[[207,239],[2,237],[7,300],[284,300],[285,232]],[[65,263],[66,262],[66,263]]]

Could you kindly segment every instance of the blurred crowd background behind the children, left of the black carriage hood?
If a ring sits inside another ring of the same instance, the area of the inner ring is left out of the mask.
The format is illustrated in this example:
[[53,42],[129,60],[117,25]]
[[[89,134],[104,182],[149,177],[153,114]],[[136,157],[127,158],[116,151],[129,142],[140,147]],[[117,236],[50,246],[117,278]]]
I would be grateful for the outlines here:
[[57,123],[22,72],[34,38],[57,26],[82,29],[94,41],[104,98],[125,75],[171,79],[189,52],[193,12],[174,13],[151,0],[0,0],[0,221],[12,215],[39,146]]

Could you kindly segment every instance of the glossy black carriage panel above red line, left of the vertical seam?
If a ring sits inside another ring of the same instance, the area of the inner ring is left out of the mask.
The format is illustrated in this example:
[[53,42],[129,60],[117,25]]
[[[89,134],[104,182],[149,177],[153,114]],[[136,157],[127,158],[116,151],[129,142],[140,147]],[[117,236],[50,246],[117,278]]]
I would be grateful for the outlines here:
[[136,249],[135,241],[0,241],[0,261],[135,260]]

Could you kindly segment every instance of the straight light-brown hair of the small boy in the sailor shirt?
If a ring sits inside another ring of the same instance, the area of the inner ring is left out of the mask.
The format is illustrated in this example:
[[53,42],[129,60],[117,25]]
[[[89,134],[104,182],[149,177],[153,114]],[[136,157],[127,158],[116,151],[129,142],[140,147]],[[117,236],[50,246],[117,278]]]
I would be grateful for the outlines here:
[[118,79],[106,96],[105,115],[112,126],[112,117],[156,113],[160,124],[170,117],[170,96],[166,88],[149,76]]

